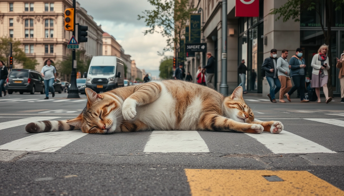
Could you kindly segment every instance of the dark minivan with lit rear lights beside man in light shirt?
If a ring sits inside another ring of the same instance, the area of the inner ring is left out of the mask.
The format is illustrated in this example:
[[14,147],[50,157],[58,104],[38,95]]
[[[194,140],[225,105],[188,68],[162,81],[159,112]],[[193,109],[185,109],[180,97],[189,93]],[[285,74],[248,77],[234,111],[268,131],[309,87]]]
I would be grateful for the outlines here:
[[44,94],[44,82],[41,74],[32,69],[12,69],[7,79],[7,92],[29,92]]

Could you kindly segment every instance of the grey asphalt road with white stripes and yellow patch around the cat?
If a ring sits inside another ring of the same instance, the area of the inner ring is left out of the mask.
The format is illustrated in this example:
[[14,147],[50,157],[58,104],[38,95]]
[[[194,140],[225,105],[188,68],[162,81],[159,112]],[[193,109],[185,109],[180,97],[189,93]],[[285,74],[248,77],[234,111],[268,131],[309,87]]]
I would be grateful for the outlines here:
[[[344,195],[344,104],[244,99],[280,134],[81,131],[29,134],[25,125],[71,119],[87,98],[0,98],[0,195]],[[324,98],[323,98],[324,101]]]

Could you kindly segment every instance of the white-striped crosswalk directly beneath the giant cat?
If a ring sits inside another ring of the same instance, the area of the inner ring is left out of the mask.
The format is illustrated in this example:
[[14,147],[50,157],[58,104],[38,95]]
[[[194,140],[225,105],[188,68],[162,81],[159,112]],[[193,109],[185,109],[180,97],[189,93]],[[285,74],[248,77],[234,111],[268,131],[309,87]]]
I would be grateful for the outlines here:
[[[0,117],[1,118],[1,117]],[[60,149],[64,149],[67,145],[78,140],[78,148],[84,148],[82,145],[89,145],[89,137],[106,137],[106,142],[113,145],[112,140],[116,139],[116,134],[110,135],[89,135],[83,133],[82,131],[60,131],[60,132],[45,132],[39,134],[27,134],[24,130],[24,126],[30,122],[36,122],[40,120],[51,120],[51,119],[61,119],[57,116],[36,116],[36,117],[22,117],[20,119],[10,120],[7,122],[0,123],[0,130],[2,137],[11,137],[11,131],[7,130],[18,130],[23,133],[23,137],[19,139],[14,139],[6,143],[2,143],[0,139],[0,150],[11,150],[11,151],[37,151],[37,152],[55,152]],[[343,129],[344,120],[341,119],[319,119],[319,118],[303,118],[302,120],[305,124],[318,123],[315,127],[320,125],[331,125],[335,129]],[[20,127],[18,127],[20,126]],[[285,126],[288,127],[288,126]],[[322,131],[322,130],[320,130]],[[202,131],[201,131],[202,132]],[[228,149],[231,149],[231,145],[234,143],[223,144],[223,138],[216,138],[217,142],[213,142],[212,133],[200,134],[200,131],[150,131],[149,136],[139,137],[135,135],[137,141],[136,144],[141,143],[142,149],[137,149],[138,151],[145,153],[170,153],[170,152],[198,152],[198,153],[209,153],[214,152],[212,145],[224,145]],[[24,134],[25,133],[25,134]],[[230,137],[230,140],[236,141],[244,136],[242,134],[219,132],[222,137]],[[126,133],[123,133],[126,134]],[[135,132],[131,134],[140,134],[140,132]],[[230,135],[229,135],[230,134]],[[201,137],[202,136],[202,137]],[[123,135],[121,135],[123,137]],[[126,137],[133,137],[133,135],[127,134]],[[85,140],[85,141],[84,141]],[[304,138],[298,134],[283,130],[280,134],[270,134],[263,132],[261,134],[246,134],[245,142],[249,145],[253,145],[252,153],[254,153],[254,146],[264,146],[266,151],[275,154],[283,153],[336,153],[335,149],[329,149],[324,147],[324,142],[319,144],[319,141],[311,141],[310,138]],[[83,142],[84,141],[84,142]],[[326,140],[324,140],[326,142]],[[123,147],[128,145],[127,143],[121,143],[117,141],[115,145]],[[122,142],[128,142],[128,140],[123,140]],[[237,144],[237,143],[235,143]],[[326,144],[326,143],[325,143]],[[97,143],[92,145],[98,146]],[[101,143],[101,145],[106,145]],[[326,146],[326,145],[325,145]],[[240,152],[238,152],[240,153]]]

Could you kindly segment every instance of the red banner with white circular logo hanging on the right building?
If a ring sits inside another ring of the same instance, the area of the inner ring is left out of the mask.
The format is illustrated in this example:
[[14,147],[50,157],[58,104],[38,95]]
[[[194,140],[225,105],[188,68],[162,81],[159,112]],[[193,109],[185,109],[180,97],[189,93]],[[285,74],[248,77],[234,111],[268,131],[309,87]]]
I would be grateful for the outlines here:
[[236,0],[235,2],[236,17],[258,17],[259,0]]

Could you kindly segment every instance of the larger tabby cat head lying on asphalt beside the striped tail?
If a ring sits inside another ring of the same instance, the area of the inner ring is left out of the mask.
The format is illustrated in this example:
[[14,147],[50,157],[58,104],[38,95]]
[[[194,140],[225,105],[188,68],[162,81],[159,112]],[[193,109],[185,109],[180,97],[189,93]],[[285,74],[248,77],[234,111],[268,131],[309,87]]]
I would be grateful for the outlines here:
[[85,133],[106,134],[120,129],[119,120],[122,116],[122,103],[111,93],[98,94],[86,88],[87,105],[82,113],[68,120],[67,124],[80,127]]

